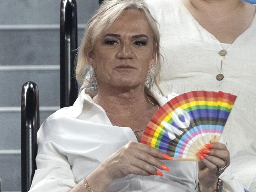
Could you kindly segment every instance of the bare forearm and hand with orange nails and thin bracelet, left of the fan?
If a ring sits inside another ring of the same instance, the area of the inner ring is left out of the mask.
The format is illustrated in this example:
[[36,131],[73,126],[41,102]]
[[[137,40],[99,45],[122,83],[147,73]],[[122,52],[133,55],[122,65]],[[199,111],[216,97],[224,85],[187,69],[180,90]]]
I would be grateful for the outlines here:
[[171,160],[172,158],[151,146],[129,142],[86,176],[86,186],[84,179],[70,192],[92,191],[89,188],[97,192],[105,192],[115,179],[120,179],[129,174],[163,176],[159,169],[170,170],[160,159]]

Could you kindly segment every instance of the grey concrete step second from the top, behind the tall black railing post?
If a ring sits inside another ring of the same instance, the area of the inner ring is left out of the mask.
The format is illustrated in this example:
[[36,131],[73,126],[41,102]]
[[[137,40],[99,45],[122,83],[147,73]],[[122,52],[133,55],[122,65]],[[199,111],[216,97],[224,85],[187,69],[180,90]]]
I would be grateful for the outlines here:
[[[78,29],[78,44],[84,26]],[[1,65],[59,65],[59,25],[0,26]]]

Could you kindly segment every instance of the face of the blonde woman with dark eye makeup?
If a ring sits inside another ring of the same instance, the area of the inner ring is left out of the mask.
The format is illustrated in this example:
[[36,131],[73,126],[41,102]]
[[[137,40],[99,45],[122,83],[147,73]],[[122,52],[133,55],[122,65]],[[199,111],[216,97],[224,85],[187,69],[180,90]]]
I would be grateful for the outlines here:
[[153,33],[146,17],[136,9],[124,11],[87,58],[93,63],[99,89],[144,87],[148,70],[155,64]]

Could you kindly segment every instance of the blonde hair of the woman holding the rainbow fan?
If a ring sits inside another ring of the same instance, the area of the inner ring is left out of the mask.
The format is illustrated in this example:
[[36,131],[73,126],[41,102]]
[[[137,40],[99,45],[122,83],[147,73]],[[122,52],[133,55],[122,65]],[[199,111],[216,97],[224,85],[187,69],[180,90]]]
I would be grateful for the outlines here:
[[[87,53],[93,52],[95,42],[108,28],[117,20],[117,18],[127,9],[137,9],[141,11],[148,20],[148,24],[153,33],[153,49],[156,54],[156,64],[152,68],[152,85],[161,92],[158,83],[160,82],[160,35],[156,20],[150,14],[147,5],[143,0],[105,0],[95,11],[91,19],[87,22],[82,43],[78,50],[76,64],[76,79],[78,83],[85,83],[85,87],[92,87],[96,82],[93,68],[87,61]],[[147,79],[148,81],[148,79]]]

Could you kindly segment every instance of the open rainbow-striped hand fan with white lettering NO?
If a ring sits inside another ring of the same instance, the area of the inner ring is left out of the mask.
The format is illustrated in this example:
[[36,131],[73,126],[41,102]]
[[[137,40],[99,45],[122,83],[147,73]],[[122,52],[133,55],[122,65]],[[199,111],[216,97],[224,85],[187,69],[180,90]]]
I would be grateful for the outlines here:
[[191,91],[165,103],[148,122],[141,143],[173,157],[199,161],[196,153],[209,142],[218,142],[236,95]]

